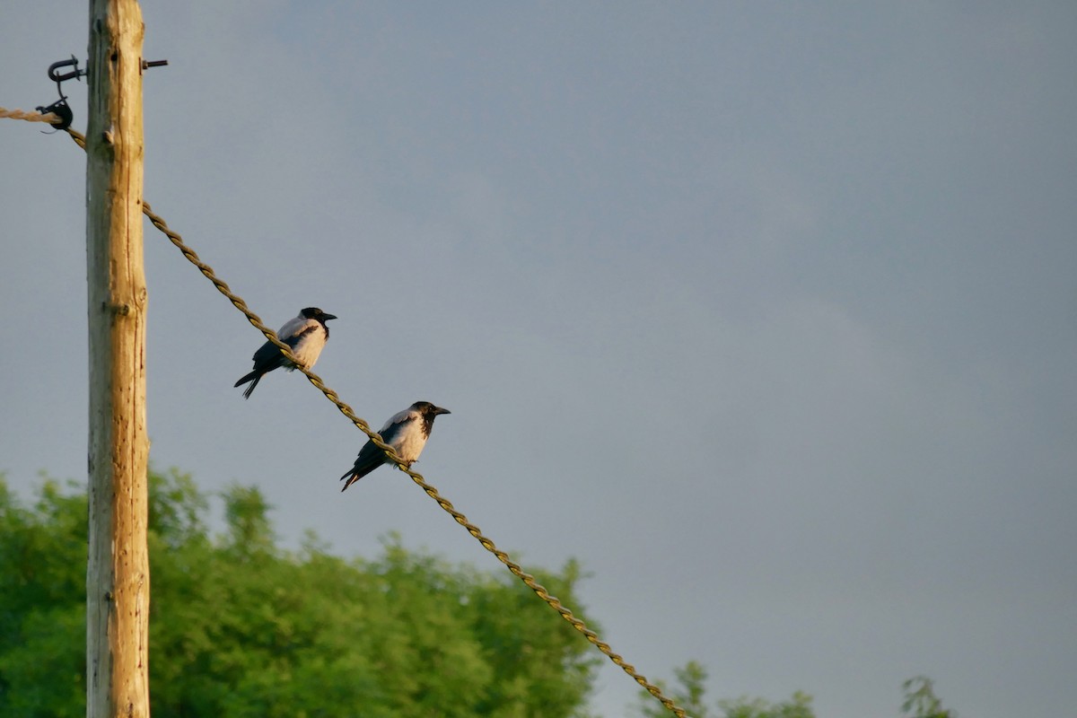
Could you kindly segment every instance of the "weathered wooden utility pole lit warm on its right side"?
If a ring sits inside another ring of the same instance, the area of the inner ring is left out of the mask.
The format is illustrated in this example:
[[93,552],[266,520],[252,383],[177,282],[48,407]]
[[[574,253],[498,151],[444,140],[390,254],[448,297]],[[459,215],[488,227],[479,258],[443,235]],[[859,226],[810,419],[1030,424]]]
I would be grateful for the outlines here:
[[89,2],[86,716],[150,715],[142,11]]

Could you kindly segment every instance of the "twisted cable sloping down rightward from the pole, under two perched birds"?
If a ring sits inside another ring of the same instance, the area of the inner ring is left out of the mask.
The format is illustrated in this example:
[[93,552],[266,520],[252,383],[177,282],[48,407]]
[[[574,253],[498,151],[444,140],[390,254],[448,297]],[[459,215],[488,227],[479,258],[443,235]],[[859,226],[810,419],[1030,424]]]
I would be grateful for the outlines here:
[[[67,132],[71,136],[71,139],[74,140],[75,144],[78,144],[83,150],[86,149],[86,140],[81,133],[71,128],[68,128]],[[466,516],[458,511],[456,507],[452,506],[452,503],[449,499],[442,496],[438,493],[437,489],[428,483],[421,474],[412,470],[407,463],[405,463],[398,455],[396,455],[396,452],[393,451],[393,448],[388,444],[386,444],[377,432],[370,428],[370,425],[367,424],[366,421],[358,417],[355,412],[352,411],[352,408],[350,406],[340,400],[340,397],[337,395],[335,391],[325,385],[321,377],[319,377],[317,374],[314,374],[307,367],[300,365],[298,361],[296,361],[295,355],[292,354],[291,348],[277,338],[277,333],[270,329],[265,324],[263,324],[258,315],[250,310],[243,298],[233,293],[232,290],[228,287],[228,285],[223,280],[218,278],[216,273],[213,271],[213,268],[210,267],[205,262],[202,262],[198,257],[198,254],[186,245],[186,243],[183,241],[183,238],[180,237],[180,235],[178,235],[177,233],[172,231],[168,227],[168,224],[166,224],[165,220],[162,219],[160,215],[154,213],[153,210],[150,208],[150,205],[145,201],[142,202],[142,213],[145,214],[146,217],[149,217],[150,222],[153,223],[153,226],[155,226],[166,237],[168,237],[168,239],[172,242],[172,244],[174,244],[176,248],[180,250],[183,256],[186,257],[187,261],[191,262],[191,264],[193,264],[198,268],[198,271],[200,271],[206,277],[206,279],[208,279],[210,282],[213,283],[213,286],[215,286],[218,291],[221,292],[221,294],[223,294],[228,298],[228,300],[233,304],[233,306],[236,307],[236,309],[241,311],[243,315],[247,316],[247,321],[250,322],[254,326],[254,328],[256,328],[258,332],[265,335],[266,339],[271,341],[278,349],[280,349],[281,353],[284,354],[285,358],[295,364],[296,369],[302,371],[307,377],[307,380],[310,381],[310,383],[313,384],[316,388],[318,388],[318,390],[325,395],[325,398],[332,402],[336,406],[336,408],[339,409],[340,413],[347,417],[351,421],[351,423],[353,423],[356,427],[359,427],[361,432],[366,434],[366,436],[376,447],[384,451],[386,455],[390,459],[390,461],[396,464],[396,467],[398,469],[401,469],[409,477],[411,477],[411,480],[416,484],[418,484],[419,488],[422,489],[428,496],[437,502],[437,505],[440,506],[449,516],[451,516],[457,523],[466,529],[467,533],[474,536],[475,539],[482,545],[482,548],[485,548],[487,551],[496,557],[498,561],[501,561],[501,563],[505,564],[505,566],[508,568],[508,571],[513,573],[513,575],[515,575],[517,578],[523,581],[523,583],[529,589],[534,591],[540,599],[545,601],[550,608],[560,614],[561,618],[568,621],[572,625],[572,628],[576,629],[582,634],[584,634],[584,636],[587,637],[587,640],[593,644],[596,648],[602,651],[611,661],[613,661],[625,673],[631,676],[631,678],[637,684],[639,684],[648,693],[658,699],[662,703],[662,705],[669,708],[674,715],[677,716],[677,718],[687,718],[687,714],[685,713],[684,708],[677,706],[672,700],[670,700],[662,693],[661,689],[658,686],[655,686],[654,684],[649,682],[644,676],[638,673],[635,666],[625,661],[625,659],[620,654],[615,653],[613,649],[610,647],[610,644],[605,643],[604,640],[601,640],[599,638],[599,635],[595,631],[587,628],[587,624],[582,619],[576,618],[573,615],[572,610],[570,610],[564,604],[562,604],[560,600],[558,600],[556,596],[551,595],[549,591],[546,590],[545,587],[543,587],[534,579],[534,576],[524,572],[523,568],[520,567],[518,563],[513,561],[507,553],[499,549],[492,539],[485,536],[478,526],[470,522]]]

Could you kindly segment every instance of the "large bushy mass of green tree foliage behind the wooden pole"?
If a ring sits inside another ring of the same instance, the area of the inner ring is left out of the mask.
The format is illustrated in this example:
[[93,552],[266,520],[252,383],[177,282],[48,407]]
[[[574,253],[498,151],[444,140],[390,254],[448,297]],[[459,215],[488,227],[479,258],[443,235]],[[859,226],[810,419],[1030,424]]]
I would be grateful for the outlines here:
[[[213,538],[191,477],[151,473],[154,718],[584,715],[599,659],[510,576],[397,537],[285,551],[257,489],[223,499]],[[85,571],[84,493],[46,481],[27,508],[0,477],[0,715],[84,715]],[[574,563],[536,578],[577,605]]]

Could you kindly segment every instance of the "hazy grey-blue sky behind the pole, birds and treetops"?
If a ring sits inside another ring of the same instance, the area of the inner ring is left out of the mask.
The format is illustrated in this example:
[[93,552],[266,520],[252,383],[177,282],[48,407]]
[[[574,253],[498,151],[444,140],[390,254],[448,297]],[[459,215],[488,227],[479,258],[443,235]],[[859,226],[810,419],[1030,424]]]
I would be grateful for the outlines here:
[[[0,107],[85,3],[0,9]],[[143,3],[145,198],[602,635],[712,699],[1077,705],[1077,4]],[[68,87],[85,128],[85,84]],[[0,121],[0,469],[84,480],[85,157]],[[500,564],[146,223],[158,468],[316,529]],[[550,611],[550,624],[560,620]],[[606,662],[606,718],[635,685]]]

